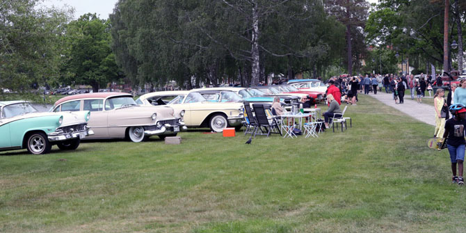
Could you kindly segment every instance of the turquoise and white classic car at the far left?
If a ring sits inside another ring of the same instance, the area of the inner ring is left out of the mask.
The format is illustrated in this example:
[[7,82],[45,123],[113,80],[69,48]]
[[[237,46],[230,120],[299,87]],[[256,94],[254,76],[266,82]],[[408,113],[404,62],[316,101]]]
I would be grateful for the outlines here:
[[27,149],[46,154],[52,145],[75,150],[80,140],[90,136],[89,111],[39,113],[29,102],[0,102],[0,151]]

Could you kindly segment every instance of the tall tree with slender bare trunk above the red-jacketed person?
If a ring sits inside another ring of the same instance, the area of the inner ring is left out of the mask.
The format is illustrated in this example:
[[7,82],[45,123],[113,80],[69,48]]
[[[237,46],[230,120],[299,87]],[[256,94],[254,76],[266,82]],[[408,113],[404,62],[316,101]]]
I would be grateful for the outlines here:
[[325,6],[328,13],[346,26],[348,73],[353,74],[353,34],[364,30],[369,3],[365,0],[327,0]]

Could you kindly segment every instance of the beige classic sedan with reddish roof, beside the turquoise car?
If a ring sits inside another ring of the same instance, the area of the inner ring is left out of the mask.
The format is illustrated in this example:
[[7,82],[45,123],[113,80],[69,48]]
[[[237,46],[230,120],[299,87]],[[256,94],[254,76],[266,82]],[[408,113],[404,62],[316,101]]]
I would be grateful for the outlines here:
[[135,143],[150,136],[175,136],[186,130],[184,111],[169,106],[138,106],[127,93],[88,93],[59,99],[51,111],[91,111],[94,135],[86,139],[129,138]]

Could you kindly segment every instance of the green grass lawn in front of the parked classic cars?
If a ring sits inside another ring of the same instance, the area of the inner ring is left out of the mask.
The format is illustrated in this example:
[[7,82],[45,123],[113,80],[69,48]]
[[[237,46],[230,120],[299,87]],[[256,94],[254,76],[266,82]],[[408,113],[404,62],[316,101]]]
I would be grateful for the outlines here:
[[360,95],[319,138],[188,131],[0,153],[0,232],[463,232],[433,127]]

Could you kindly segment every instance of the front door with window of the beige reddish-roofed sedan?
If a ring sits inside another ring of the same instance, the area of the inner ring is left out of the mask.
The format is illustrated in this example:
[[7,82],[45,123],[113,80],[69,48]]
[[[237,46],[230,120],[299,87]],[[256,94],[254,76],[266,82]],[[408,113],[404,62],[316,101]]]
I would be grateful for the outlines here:
[[90,111],[88,126],[94,131],[86,138],[109,138],[109,112],[104,111],[104,99],[84,99],[83,110]]

